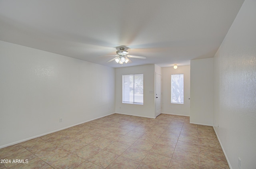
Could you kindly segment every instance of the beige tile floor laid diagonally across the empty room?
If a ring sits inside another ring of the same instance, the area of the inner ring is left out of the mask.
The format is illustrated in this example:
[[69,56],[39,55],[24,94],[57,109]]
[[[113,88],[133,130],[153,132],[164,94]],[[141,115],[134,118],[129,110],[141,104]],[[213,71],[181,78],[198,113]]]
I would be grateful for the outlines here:
[[228,169],[212,127],[112,114],[0,149],[0,169]]

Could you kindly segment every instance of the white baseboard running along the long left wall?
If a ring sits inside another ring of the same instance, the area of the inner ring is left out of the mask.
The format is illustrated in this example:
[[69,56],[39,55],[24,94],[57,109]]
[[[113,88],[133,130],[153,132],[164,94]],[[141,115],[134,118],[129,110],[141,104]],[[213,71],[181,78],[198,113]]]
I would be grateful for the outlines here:
[[[111,114],[115,114],[115,113],[111,113]],[[78,124],[74,124],[74,125],[71,125],[71,126],[68,126],[68,127],[60,128],[60,129],[58,129],[58,130],[54,130],[54,131],[51,131],[51,132],[47,132],[47,133],[44,133],[44,134],[40,134],[40,135],[37,135],[37,136],[33,136],[33,137],[30,137],[30,138],[26,138],[26,139],[23,139],[23,140],[14,141],[14,142],[12,142],[12,143],[8,143],[8,144],[5,144],[5,145],[1,145],[0,148],[8,147],[8,146],[10,146],[10,145],[18,144],[18,143],[21,143],[21,142],[23,142],[23,141],[28,141],[28,140],[31,140],[31,139],[34,139],[34,138],[39,138],[39,137],[45,136],[45,135],[47,135],[47,134],[51,134],[51,133],[54,133],[54,132],[58,132],[58,131],[60,131],[60,130],[64,130],[64,129],[67,129],[67,128],[70,128],[70,127],[77,126],[77,125],[79,125],[79,124],[83,124],[83,123],[86,123],[86,122],[90,122],[90,121],[96,120],[96,119],[98,119],[98,118],[102,118],[102,117],[105,117],[105,116],[109,116],[109,115],[111,115],[111,114],[107,114],[107,115],[100,116],[100,117],[97,117],[97,118],[94,118],[94,119],[86,120],[86,121],[80,122],[80,123],[78,123]]]

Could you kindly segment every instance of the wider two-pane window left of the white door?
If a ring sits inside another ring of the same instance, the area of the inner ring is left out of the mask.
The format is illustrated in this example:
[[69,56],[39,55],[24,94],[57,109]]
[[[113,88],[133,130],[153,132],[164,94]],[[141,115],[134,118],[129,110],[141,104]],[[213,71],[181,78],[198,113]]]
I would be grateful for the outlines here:
[[123,75],[123,103],[143,104],[143,74]]

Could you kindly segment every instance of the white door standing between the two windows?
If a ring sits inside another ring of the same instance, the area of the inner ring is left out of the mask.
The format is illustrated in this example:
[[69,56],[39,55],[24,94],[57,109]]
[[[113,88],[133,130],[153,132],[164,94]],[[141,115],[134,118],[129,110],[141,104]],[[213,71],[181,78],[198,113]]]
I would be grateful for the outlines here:
[[159,75],[156,73],[156,113],[155,113],[155,116],[160,115],[162,112],[161,85],[162,85],[162,75]]

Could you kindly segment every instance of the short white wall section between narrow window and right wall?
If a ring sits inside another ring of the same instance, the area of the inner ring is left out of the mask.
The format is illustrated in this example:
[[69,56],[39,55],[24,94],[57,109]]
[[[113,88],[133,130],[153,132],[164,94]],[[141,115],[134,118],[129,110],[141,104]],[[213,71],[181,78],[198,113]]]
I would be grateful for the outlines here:
[[213,125],[213,58],[190,61],[190,123]]

